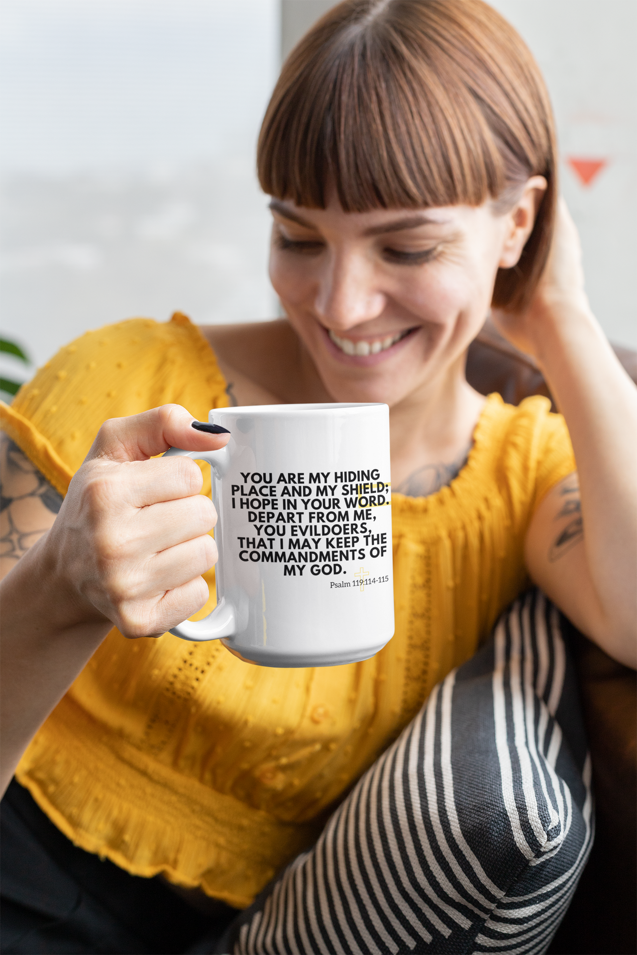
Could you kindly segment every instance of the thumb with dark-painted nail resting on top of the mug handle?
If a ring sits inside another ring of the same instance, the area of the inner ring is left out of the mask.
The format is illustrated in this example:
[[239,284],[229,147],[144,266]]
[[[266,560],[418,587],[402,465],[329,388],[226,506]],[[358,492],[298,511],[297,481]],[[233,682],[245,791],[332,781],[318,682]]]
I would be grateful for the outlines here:
[[161,405],[142,414],[110,418],[97,432],[86,460],[107,457],[113,461],[145,461],[168,448],[184,451],[218,451],[230,435],[195,431],[197,419],[181,405]]

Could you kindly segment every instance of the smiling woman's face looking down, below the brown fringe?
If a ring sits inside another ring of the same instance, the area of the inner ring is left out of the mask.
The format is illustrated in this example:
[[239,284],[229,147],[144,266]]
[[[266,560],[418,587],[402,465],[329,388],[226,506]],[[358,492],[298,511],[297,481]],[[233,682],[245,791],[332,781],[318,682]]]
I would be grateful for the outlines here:
[[271,210],[270,279],[333,400],[393,406],[462,373],[508,266],[509,215],[491,202]]

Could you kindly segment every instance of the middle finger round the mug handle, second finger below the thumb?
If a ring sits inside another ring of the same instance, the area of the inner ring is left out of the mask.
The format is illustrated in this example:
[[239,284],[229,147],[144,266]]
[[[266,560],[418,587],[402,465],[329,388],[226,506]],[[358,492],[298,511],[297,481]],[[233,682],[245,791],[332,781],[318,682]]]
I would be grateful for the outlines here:
[[217,523],[217,512],[209,498],[161,501],[142,508],[130,528],[134,546],[159,553],[185,541],[208,534]]

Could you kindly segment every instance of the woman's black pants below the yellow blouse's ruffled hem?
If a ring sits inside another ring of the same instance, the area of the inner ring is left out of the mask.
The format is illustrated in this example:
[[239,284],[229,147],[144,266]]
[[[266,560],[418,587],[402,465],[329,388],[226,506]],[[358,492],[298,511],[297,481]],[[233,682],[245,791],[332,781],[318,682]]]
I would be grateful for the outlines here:
[[210,952],[237,910],[202,915],[163,881],[74,846],[15,780],[0,804],[3,953]]

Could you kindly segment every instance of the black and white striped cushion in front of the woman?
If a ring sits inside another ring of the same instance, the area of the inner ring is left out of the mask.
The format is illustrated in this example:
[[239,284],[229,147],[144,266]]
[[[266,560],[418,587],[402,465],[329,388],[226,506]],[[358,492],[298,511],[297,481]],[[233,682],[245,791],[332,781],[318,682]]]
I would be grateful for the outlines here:
[[540,953],[592,844],[562,619],[530,591],[218,951]]

